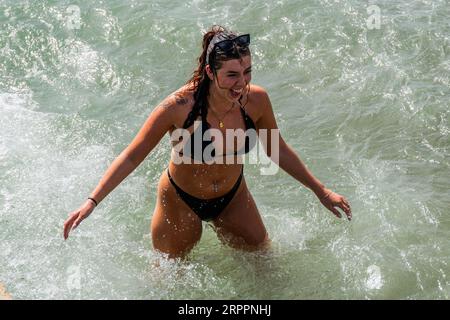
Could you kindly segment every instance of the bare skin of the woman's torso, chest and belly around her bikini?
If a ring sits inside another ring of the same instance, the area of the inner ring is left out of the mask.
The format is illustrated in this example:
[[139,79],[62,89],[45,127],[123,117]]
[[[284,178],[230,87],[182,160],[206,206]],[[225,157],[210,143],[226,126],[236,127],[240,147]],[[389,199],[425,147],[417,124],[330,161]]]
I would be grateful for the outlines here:
[[[247,115],[256,123],[261,114],[258,110],[259,100],[257,94],[254,93],[254,88],[256,86],[251,85],[250,93],[242,97],[242,103],[245,104]],[[187,87],[182,87],[174,95],[177,97],[178,103],[177,112],[174,115],[174,126],[170,130],[170,134],[177,128],[183,128],[184,121],[192,110],[194,103],[193,92]],[[223,128],[219,128],[219,120],[214,117],[212,112],[208,112],[206,120],[211,128],[222,131],[224,137],[225,129],[246,129],[238,104],[223,119],[225,124]],[[193,126],[187,128],[187,130],[192,133]],[[243,148],[243,145],[237,145],[235,149],[226,150],[225,146],[226,141],[224,141],[224,154],[233,154],[236,150]],[[174,155],[172,154],[169,170],[177,185],[192,196],[202,199],[215,198],[227,193],[241,173],[242,164],[238,164],[236,161],[233,164],[175,164],[173,157]]]

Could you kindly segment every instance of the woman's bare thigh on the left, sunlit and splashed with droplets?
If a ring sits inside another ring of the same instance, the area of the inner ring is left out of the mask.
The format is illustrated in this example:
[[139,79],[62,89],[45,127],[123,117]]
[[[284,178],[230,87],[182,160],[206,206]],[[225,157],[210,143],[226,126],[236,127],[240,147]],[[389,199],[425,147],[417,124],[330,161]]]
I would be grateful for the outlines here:
[[186,255],[202,235],[202,221],[180,199],[167,172],[161,175],[158,184],[151,234],[153,247],[170,258]]

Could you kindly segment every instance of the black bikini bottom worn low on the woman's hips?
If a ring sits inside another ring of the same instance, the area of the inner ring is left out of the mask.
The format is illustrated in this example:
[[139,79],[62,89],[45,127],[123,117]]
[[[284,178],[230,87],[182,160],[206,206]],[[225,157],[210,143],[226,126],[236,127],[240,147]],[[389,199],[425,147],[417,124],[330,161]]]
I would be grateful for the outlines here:
[[169,176],[170,182],[175,187],[177,194],[189,206],[189,208],[191,208],[192,211],[194,211],[200,219],[209,221],[217,218],[233,199],[236,191],[241,184],[242,176],[244,175],[244,166],[242,166],[241,175],[239,176],[231,190],[221,197],[212,199],[200,199],[191,196],[189,193],[183,191],[183,189],[176,185],[175,181],[173,181],[172,177],[170,176],[169,169],[167,169],[167,175]]

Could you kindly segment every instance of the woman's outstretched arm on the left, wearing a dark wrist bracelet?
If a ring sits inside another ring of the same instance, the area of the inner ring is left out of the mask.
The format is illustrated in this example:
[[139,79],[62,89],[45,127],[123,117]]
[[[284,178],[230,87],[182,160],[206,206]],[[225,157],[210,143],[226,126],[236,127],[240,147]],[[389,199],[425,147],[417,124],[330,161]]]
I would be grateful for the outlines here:
[[[100,203],[113,191],[130,173],[132,173],[147,155],[169,131],[174,123],[174,106],[176,99],[173,95],[162,101],[150,114],[137,135],[111,163],[90,197]],[[75,229],[81,221],[86,219],[95,208],[91,200],[69,214],[64,222],[64,239]]]

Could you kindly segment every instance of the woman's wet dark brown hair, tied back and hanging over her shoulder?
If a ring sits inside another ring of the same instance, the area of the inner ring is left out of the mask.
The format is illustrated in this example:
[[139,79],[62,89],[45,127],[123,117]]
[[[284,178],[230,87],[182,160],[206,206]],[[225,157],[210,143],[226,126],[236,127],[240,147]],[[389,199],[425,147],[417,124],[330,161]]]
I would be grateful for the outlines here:
[[[225,33],[229,38],[234,38],[236,36],[234,32],[231,32],[222,26],[213,26],[203,35],[202,54],[198,58],[198,67],[186,83],[192,85],[194,88],[194,105],[192,106],[192,110],[189,112],[186,121],[184,121],[183,128],[190,127],[199,115],[201,115],[203,121],[206,121],[206,115],[208,114],[209,86],[211,84],[211,80],[206,74],[206,52],[212,38],[218,33]],[[227,54],[220,52],[220,50],[213,50],[209,56],[209,63],[214,75],[217,75],[216,72],[222,67],[223,61],[241,59],[242,56],[248,54],[250,54],[248,48],[238,50],[235,47],[232,52],[228,52]]]

